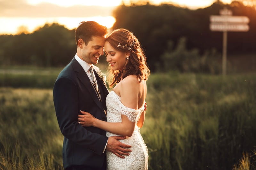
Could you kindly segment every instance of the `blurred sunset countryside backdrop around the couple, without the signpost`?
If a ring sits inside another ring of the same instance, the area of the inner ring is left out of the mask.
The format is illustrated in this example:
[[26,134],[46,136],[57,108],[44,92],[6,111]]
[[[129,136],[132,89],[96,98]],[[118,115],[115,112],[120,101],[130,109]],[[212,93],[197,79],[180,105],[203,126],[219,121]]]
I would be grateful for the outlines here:
[[[250,20],[227,33],[227,75],[210,29],[224,8]],[[132,31],[146,53],[149,169],[256,169],[256,0],[0,0],[0,169],[63,169],[52,88],[83,20]]]

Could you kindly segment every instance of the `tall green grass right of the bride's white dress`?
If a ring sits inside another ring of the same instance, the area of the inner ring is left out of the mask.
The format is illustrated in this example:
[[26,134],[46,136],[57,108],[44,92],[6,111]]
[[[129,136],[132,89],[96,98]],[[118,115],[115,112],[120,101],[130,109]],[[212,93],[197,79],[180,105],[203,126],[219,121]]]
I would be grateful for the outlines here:
[[256,75],[151,75],[141,129],[150,169],[231,169],[255,147],[255,97]]

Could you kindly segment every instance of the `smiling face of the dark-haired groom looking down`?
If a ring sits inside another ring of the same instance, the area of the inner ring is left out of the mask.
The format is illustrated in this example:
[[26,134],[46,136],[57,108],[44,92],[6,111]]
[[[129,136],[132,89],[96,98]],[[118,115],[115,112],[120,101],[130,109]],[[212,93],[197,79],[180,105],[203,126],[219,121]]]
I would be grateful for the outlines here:
[[97,64],[100,55],[103,55],[105,37],[92,36],[92,40],[82,48],[82,60],[88,64]]

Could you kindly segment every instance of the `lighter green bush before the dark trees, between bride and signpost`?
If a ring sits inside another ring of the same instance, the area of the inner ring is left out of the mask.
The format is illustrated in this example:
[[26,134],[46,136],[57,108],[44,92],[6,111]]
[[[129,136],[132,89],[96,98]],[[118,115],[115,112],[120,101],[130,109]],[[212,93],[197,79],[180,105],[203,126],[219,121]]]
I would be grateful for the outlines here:
[[161,71],[178,70],[180,72],[204,72],[216,74],[221,72],[220,54],[212,49],[211,52],[206,51],[203,56],[199,54],[198,49],[188,50],[186,48],[186,38],[179,40],[177,47],[173,49],[172,41],[168,42],[168,48],[162,55],[164,63],[157,68]]

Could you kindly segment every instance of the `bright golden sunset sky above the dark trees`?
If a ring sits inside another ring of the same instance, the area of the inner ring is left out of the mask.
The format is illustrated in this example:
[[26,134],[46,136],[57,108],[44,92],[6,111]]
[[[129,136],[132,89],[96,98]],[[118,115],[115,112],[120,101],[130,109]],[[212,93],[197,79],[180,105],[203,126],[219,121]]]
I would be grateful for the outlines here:
[[[211,5],[215,0],[151,0],[196,9]],[[125,4],[136,0],[123,0]],[[231,0],[222,0],[230,3]],[[112,11],[122,0],[0,0],[0,34],[15,34],[20,26],[32,32],[45,23],[58,22],[73,29],[83,20],[93,20],[110,28],[115,23]]]

